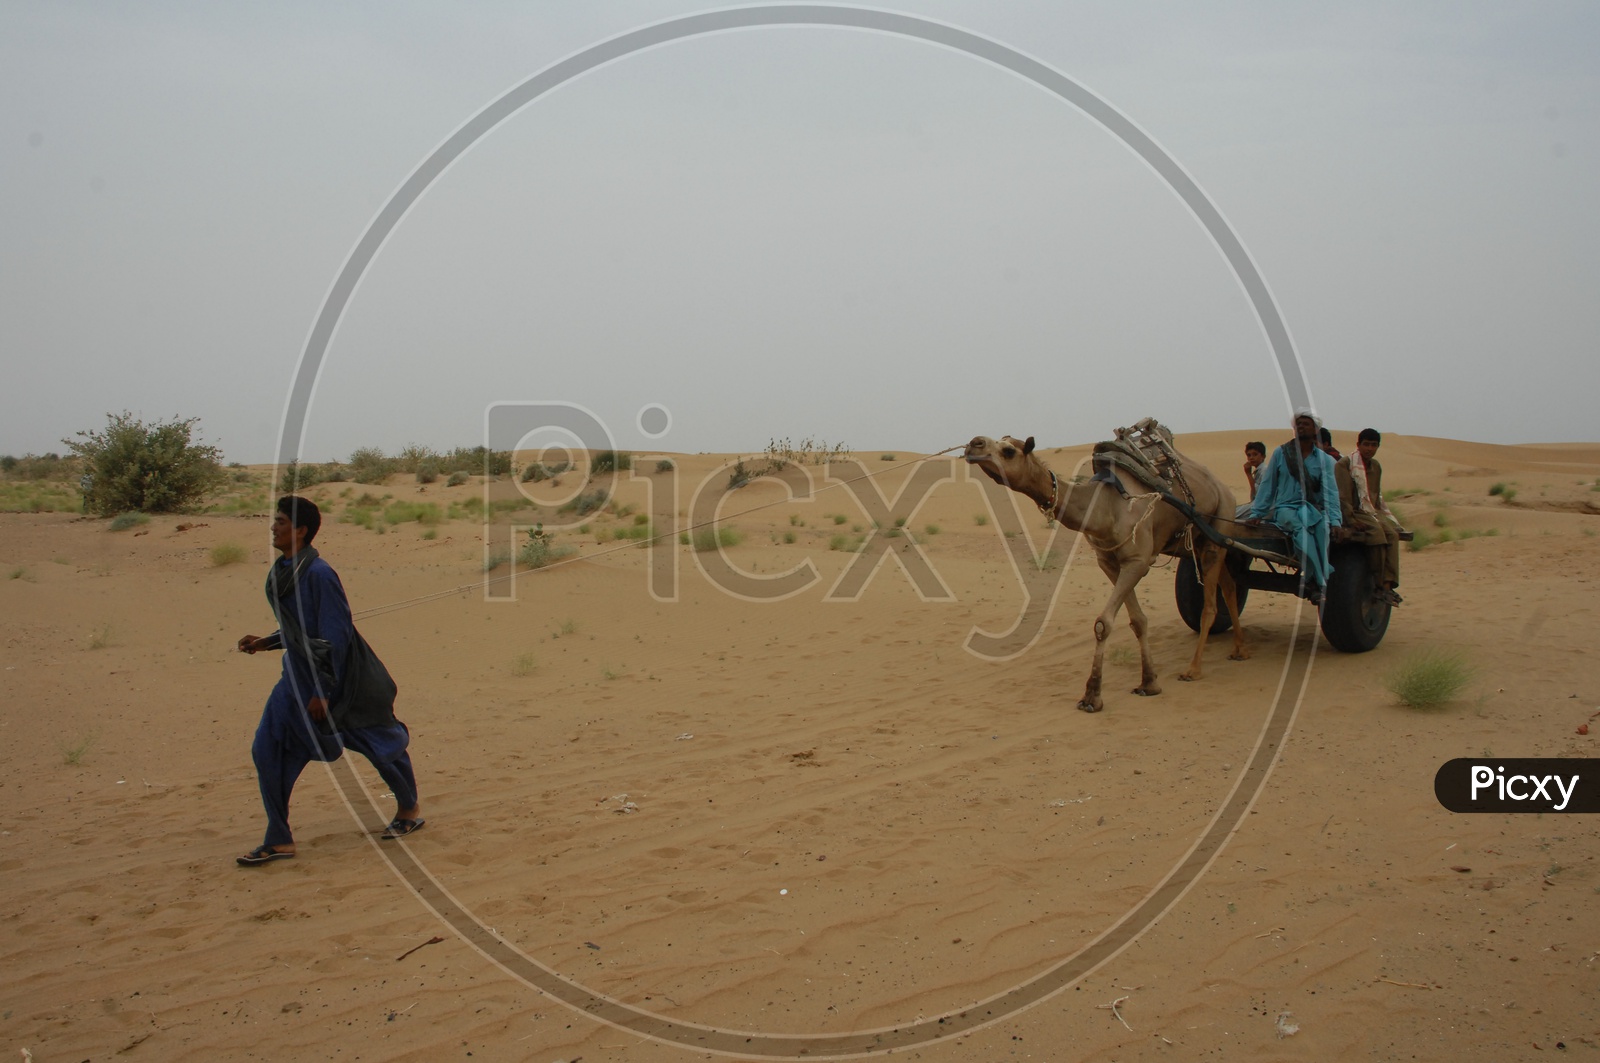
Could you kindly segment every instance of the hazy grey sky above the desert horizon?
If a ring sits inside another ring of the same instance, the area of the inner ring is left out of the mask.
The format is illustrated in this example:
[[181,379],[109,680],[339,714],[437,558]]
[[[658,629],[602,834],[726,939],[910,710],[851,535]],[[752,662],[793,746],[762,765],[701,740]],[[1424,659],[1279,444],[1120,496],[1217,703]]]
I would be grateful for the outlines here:
[[[418,163],[550,62],[699,10],[11,0],[0,453],[126,408],[270,459],[312,320]],[[1600,439],[1600,5],[894,10],[1154,136],[1336,431]],[[474,445],[502,400],[672,451],[1288,416],[1237,279],[1120,141],[968,54],[824,27],[627,56],[478,141],[366,271],[304,455]]]

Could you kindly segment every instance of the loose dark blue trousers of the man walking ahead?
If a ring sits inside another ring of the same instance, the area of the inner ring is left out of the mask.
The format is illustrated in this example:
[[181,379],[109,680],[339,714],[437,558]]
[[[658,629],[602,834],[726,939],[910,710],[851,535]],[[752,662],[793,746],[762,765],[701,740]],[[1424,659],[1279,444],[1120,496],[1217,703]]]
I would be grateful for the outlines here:
[[[411,770],[411,754],[406,752],[397,728],[368,727],[341,735],[322,735],[310,724],[306,709],[288,690],[288,682],[278,682],[261,712],[256,741],[250,756],[256,762],[256,781],[261,784],[261,804],[267,810],[267,836],[262,845],[290,845],[290,794],[301,772],[312,760],[338,760],[344,749],[354,749],[378,768],[400,808],[416,807],[416,775]],[[398,756],[395,749],[398,748]]]

